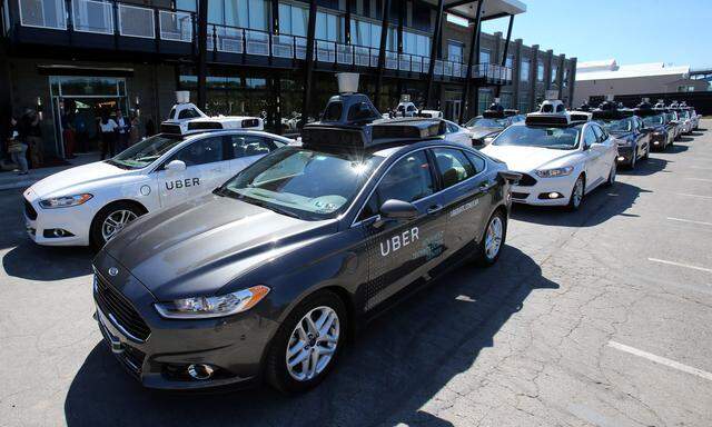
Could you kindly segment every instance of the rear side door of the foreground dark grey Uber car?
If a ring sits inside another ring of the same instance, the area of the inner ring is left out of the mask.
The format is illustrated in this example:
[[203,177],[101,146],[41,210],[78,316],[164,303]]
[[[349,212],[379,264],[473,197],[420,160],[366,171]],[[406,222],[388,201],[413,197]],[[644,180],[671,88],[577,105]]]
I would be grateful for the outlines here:
[[451,258],[479,235],[486,219],[484,198],[496,182],[482,173],[484,159],[455,148],[431,149],[441,191],[436,201],[443,209],[444,258]]

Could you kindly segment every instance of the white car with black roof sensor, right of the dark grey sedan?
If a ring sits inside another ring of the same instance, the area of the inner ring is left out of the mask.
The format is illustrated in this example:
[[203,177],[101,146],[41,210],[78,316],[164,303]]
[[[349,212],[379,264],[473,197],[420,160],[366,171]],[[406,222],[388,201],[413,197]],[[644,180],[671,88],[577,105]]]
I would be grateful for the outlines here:
[[586,193],[615,181],[617,147],[599,123],[568,112],[527,115],[481,151],[507,163],[522,179],[512,200],[577,209]]

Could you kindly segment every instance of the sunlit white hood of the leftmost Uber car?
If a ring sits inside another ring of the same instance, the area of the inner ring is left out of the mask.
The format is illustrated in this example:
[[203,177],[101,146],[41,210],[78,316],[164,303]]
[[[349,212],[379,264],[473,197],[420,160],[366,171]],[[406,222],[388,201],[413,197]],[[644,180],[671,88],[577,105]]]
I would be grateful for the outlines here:
[[134,173],[136,173],[136,170],[134,169],[121,169],[103,161],[96,161],[93,163],[78,166],[76,168],[70,168],[62,170],[61,172],[50,175],[49,177],[32,185],[30,189],[39,197],[50,195],[69,196],[65,195],[65,192],[71,192],[71,187],[79,185],[86,186],[107,178]]

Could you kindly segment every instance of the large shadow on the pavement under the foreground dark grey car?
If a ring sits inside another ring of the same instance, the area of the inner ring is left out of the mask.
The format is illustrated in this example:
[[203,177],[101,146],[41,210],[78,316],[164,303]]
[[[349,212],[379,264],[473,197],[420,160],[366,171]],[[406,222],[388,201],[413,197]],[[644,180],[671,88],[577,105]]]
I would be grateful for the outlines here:
[[[144,389],[97,344],[65,400],[69,426],[452,426],[423,406],[479,352],[535,289],[556,289],[524,252],[505,246],[487,269],[463,266],[372,321],[316,389],[228,394]],[[475,368],[476,369],[476,368]],[[486,369],[483,367],[482,369]]]

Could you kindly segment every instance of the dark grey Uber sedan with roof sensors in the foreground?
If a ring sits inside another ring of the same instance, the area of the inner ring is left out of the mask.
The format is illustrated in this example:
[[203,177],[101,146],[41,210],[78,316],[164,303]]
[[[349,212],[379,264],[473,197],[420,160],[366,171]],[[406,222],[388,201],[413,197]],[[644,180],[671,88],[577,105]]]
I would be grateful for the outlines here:
[[438,119],[307,125],[303,147],[136,220],[93,261],[106,341],[150,388],[314,387],[392,302],[500,257],[520,176],[443,135]]

